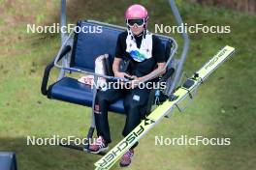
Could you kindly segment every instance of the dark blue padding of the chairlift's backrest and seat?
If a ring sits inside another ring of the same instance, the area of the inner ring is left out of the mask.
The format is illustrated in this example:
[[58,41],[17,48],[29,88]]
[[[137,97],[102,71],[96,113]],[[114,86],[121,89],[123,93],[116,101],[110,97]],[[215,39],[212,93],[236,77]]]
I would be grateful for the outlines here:
[[[111,60],[114,56],[115,45],[118,35],[124,30],[112,26],[99,25],[96,23],[80,21],[78,26],[86,30],[99,31],[101,33],[76,33],[71,55],[71,67],[83,71],[94,71],[95,58],[108,53]],[[166,58],[170,55],[172,40],[160,38]],[[48,90],[48,98],[60,99],[72,103],[91,106],[92,90],[74,78],[64,77],[62,80],[52,84]],[[124,113],[122,99],[113,103],[110,110]]]

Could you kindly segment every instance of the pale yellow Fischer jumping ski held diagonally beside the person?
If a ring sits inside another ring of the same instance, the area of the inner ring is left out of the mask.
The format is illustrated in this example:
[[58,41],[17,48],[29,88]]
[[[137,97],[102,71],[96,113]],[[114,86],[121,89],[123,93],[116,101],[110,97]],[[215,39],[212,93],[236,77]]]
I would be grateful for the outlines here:
[[148,130],[154,128],[166,115],[168,115],[173,108],[183,99],[187,97],[192,98],[192,92],[208,78],[208,76],[215,71],[223,62],[225,62],[235,52],[235,48],[231,46],[223,47],[216,55],[214,55],[207,64],[199,71],[194,73],[190,78],[176,89],[172,98],[167,99],[161,105],[157,106],[141,124],[134,128],[122,141],[120,141],[112,150],[98,160],[94,165],[96,170],[109,170],[114,163],[128,151],[138,140],[140,140]]

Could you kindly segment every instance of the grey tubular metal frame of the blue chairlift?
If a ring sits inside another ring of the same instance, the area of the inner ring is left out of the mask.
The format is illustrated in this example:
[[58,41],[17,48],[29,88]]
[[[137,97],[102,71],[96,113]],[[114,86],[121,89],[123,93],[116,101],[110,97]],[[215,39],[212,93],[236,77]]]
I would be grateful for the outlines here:
[[[63,26],[67,25],[67,12],[66,12],[67,1],[66,0],[61,0],[60,3],[61,3],[60,26],[63,27]],[[171,10],[172,10],[172,12],[175,16],[177,25],[178,26],[183,26],[183,24],[182,24],[183,21],[182,21],[182,18],[180,16],[178,10],[177,10],[175,0],[169,0],[169,4],[170,4]],[[125,27],[120,27],[120,26],[109,24],[109,23],[103,23],[103,22],[95,21],[95,20],[87,20],[87,21],[91,22],[91,23],[96,23],[96,24],[101,24],[101,25],[106,25],[106,26],[112,26],[112,27],[115,27],[115,28],[126,29]],[[167,37],[167,36],[163,36],[163,35],[158,35],[158,36],[165,37],[165,38],[168,38],[168,39],[172,39],[173,42],[174,42],[174,47],[171,51],[170,57],[167,61],[167,65],[166,65],[166,68],[165,68],[165,69],[167,69],[171,60],[174,58],[174,55],[176,54],[177,42],[176,42],[175,39],[173,39],[171,37]],[[172,80],[172,84],[169,87],[168,91],[166,92],[166,95],[169,96],[169,97],[171,97],[173,95],[173,93],[175,92],[178,81],[181,78],[180,76],[182,74],[183,64],[184,64],[184,61],[186,59],[187,52],[188,52],[188,49],[189,49],[189,38],[188,38],[187,33],[183,32],[181,34],[181,36],[182,36],[182,39],[183,39],[182,52],[181,52],[180,56],[178,57],[178,62],[177,62],[177,66],[176,66],[175,75],[174,75],[173,80]],[[58,61],[60,60],[61,53],[62,53],[63,49],[65,48],[65,46],[67,44],[71,44],[73,42],[73,38],[74,38],[73,37],[73,32],[70,33],[69,35],[67,33],[61,32],[60,33],[60,38],[61,38],[61,47],[60,47],[60,49],[57,53],[57,56],[55,57],[55,60],[54,60],[54,66],[56,68],[60,69],[60,72],[59,72],[59,75],[58,75],[58,80],[60,80],[61,78],[63,78],[65,76],[66,71],[68,71],[68,72],[76,71],[76,72],[80,72],[80,73],[94,75],[94,81],[97,81],[98,77],[105,77],[105,78],[111,78],[111,79],[116,78],[116,77],[113,77],[113,76],[106,76],[106,75],[97,74],[97,73],[91,72],[91,71],[81,71],[79,69],[70,68],[69,67],[69,60],[70,60],[69,59],[69,57],[70,57],[69,54],[66,54],[66,55],[64,55],[63,58],[61,58],[61,60],[62,60],[61,65],[59,65]],[[154,76],[154,75],[152,75],[152,76]],[[93,106],[94,106],[94,99],[96,97],[96,92],[97,92],[97,89],[94,87],[94,89],[93,89],[92,109],[93,109]],[[88,134],[87,134],[87,139],[92,137],[94,128],[95,128],[95,120],[94,120],[94,114],[93,114],[93,110],[92,110],[91,126],[90,126],[90,129],[89,129]],[[83,148],[80,148],[78,146],[66,146],[66,147],[77,149],[77,150],[82,150],[82,151],[87,151],[88,146],[85,146]]]

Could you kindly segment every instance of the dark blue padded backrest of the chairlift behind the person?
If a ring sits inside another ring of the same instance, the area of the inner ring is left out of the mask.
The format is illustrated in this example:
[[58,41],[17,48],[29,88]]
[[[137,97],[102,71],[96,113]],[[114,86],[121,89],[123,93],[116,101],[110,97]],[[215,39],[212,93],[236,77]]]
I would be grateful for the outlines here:
[[[125,31],[124,28],[122,29],[113,25],[101,25],[90,21],[80,21],[77,26],[86,28],[87,31],[91,31],[92,33],[84,33],[82,31],[75,33],[71,67],[83,71],[94,71],[95,58],[106,53],[109,54],[112,60],[117,37],[121,32]],[[163,44],[162,47],[167,60],[170,56],[173,40],[159,35],[157,36]]]

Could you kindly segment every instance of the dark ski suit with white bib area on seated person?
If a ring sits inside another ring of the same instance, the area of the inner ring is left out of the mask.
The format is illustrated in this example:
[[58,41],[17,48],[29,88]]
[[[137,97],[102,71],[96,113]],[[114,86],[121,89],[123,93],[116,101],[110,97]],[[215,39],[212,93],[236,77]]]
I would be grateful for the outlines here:
[[[151,39],[151,41],[149,39]],[[143,42],[147,40],[149,40],[149,44]],[[131,42],[131,44],[129,42]],[[142,45],[147,48],[149,45],[148,49],[144,50],[149,52],[151,57],[143,58],[144,56],[142,57],[142,55],[138,55],[134,50],[130,50],[130,52],[127,51],[127,45],[132,46],[133,42],[137,45],[137,48],[141,48]],[[149,51],[150,49],[151,51]],[[145,34],[137,37],[131,36],[130,32],[128,33],[128,31],[125,31],[118,36],[115,57],[130,61],[129,67],[125,71],[126,73],[142,77],[151,71],[154,71],[157,63],[165,62],[165,56],[161,49],[161,42],[154,35],[146,37]],[[123,136],[126,136],[136,128],[141,123],[141,120],[144,119],[149,92],[150,89],[140,89],[138,87],[134,89],[109,88],[107,90],[98,91],[94,106],[95,124],[98,136],[103,136],[107,143],[112,141],[108,121],[108,108],[110,104],[120,98],[124,98],[123,104],[127,116],[122,132]]]

